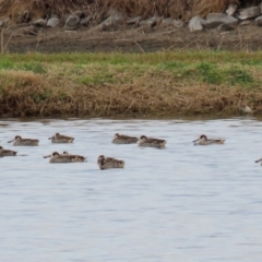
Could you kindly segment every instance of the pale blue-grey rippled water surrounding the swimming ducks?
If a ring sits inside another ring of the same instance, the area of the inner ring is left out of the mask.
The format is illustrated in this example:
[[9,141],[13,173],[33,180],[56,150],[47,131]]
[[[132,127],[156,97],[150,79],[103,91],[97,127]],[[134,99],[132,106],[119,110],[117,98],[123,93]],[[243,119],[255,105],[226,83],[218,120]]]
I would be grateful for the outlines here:
[[[0,121],[1,262],[262,261],[262,122],[219,120]],[[56,132],[73,144],[51,144]],[[116,132],[167,140],[116,145]],[[224,145],[194,146],[200,134]],[[20,134],[38,147],[13,147]],[[53,151],[87,163],[49,164]],[[98,155],[126,160],[99,170]]]

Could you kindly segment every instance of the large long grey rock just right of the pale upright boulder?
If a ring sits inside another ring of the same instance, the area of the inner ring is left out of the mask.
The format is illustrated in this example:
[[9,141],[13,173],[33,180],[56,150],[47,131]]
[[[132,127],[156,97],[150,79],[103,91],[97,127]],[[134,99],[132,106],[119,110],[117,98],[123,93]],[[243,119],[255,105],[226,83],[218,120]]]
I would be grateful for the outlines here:
[[237,19],[224,13],[210,13],[206,16],[206,28],[216,28],[221,24],[237,25],[239,22]]

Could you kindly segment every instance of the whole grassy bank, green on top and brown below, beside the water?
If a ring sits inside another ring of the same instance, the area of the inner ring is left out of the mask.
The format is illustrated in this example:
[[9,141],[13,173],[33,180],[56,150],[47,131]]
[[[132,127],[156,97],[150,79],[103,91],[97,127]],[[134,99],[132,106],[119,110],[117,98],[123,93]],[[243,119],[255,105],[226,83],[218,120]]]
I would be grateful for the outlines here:
[[0,116],[262,112],[262,52],[0,56]]

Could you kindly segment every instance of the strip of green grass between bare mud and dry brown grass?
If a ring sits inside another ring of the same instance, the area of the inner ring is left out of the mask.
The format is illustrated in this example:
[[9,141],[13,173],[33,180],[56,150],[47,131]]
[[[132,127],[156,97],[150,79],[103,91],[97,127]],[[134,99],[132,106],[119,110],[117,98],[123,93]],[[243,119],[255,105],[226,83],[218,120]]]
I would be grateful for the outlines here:
[[83,85],[128,83],[148,73],[168,73],[180,82],[253,86],[261,84],[261,61],[262,52],[243,51],[7,53],[0,56],[0,71],[57,74]]

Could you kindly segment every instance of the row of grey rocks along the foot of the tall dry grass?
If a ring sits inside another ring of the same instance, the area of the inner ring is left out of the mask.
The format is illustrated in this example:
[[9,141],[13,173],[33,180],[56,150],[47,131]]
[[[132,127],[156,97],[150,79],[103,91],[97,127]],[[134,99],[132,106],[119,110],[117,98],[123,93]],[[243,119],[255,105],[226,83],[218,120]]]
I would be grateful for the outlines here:
[[43,28],[63,27],[64,29],[79,29],[86,27],[88,29],[106,31],[121,25],[133,25],[135,27],[163,27],[174,26],[175,28],[187,27],[190,32],[216,28],[218,32],[233,31],[236,26],[254,24],[262,25],[262,3],[257,7],[239,9],[238,4],[229,4],[224,13],[210,13],[205,19],[200,15],[193,16],[189,22],[163,16],[152,16],[144,20],[141,15],[127,17],[124,13],[117,10],[109,10],[107,14],[95,13],[86,15],[78,10],[74,13],[66,15],[66,19],[57,14],[44,15],[45,17],[32,17],[32,13],[25,10],[19,14],[15,21],[10,17],[0,20],[0,27],[9,27],[11,23],[22,24],[26,34],[36,35]]

